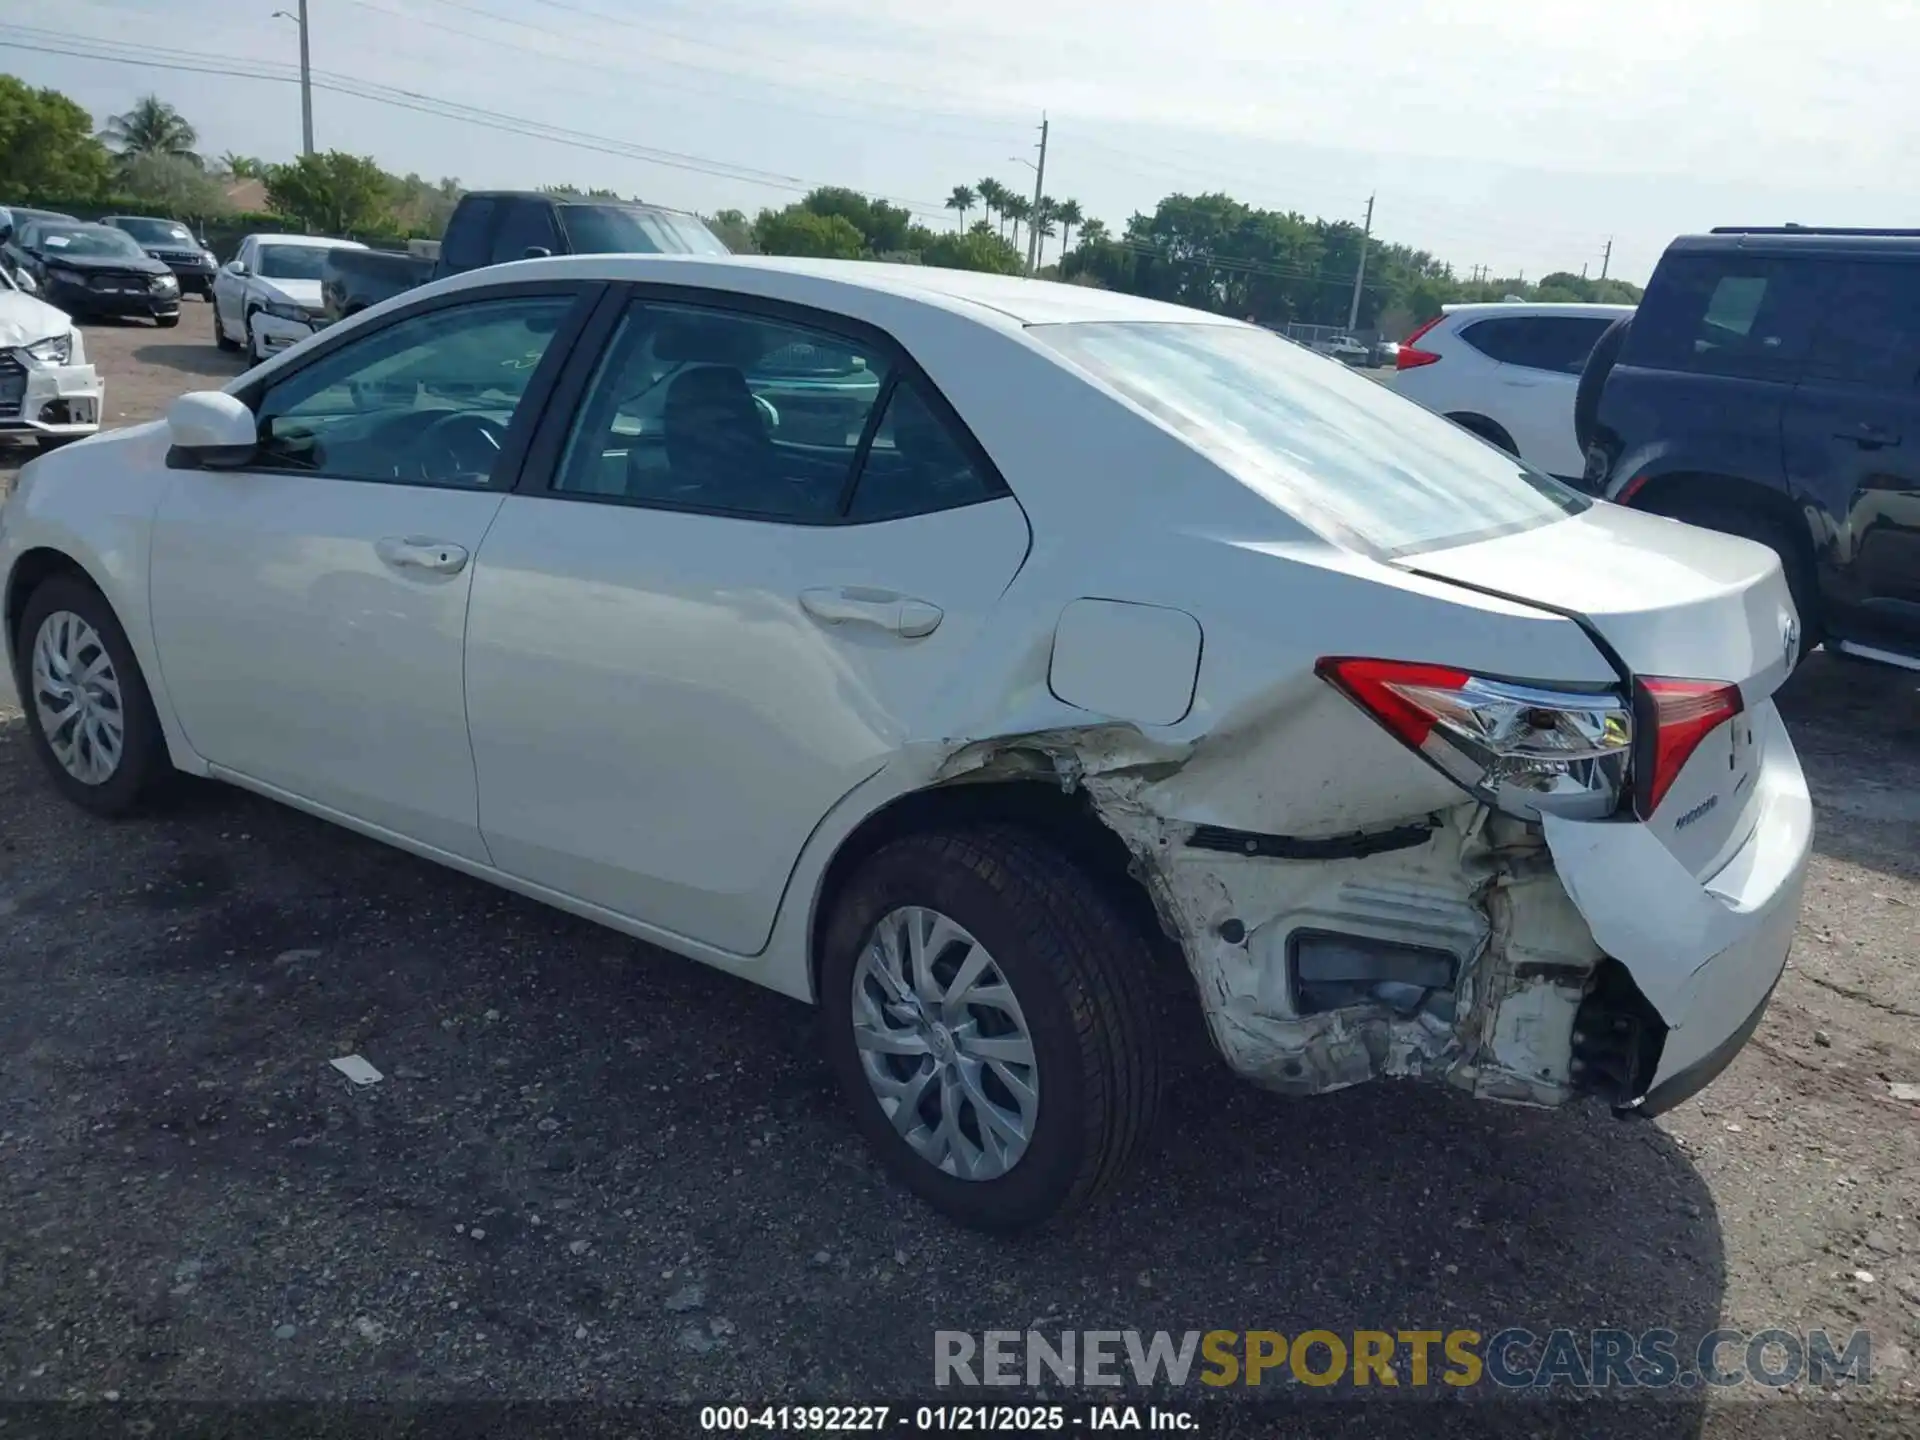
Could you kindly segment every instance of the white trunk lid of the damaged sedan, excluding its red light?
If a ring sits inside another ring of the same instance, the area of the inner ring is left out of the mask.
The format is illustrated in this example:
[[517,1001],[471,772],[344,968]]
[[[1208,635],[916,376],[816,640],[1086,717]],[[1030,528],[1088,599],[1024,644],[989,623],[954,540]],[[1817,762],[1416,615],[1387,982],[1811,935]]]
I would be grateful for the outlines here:
[[[1736,536],[1594,505],[1557,524],[1409,555],[1421,574],[1582,620],[1632,678],[1738,685],[1743,708],[1713,730],[1647,820],[1707,879],[1755,824],[1766,726],[1755,712],[1791,674],[1799,618],[1780,559]],[[1553,680],[1553,676],[1517,676]]]

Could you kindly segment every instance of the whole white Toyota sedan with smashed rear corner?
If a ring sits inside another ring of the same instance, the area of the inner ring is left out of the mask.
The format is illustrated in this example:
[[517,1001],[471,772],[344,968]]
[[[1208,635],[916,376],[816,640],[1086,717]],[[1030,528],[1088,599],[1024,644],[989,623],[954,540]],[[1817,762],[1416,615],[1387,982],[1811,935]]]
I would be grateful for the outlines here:
[[[793,346],[877,376],[845,440],[755,401]],[[1772,553],[1104,290],[476,271],[31,463],[0,586],[75,803],[213,776],[818,1002],[981,1227],[1106,1188],[1190,1020],[1665,1110],[1807,874]]]

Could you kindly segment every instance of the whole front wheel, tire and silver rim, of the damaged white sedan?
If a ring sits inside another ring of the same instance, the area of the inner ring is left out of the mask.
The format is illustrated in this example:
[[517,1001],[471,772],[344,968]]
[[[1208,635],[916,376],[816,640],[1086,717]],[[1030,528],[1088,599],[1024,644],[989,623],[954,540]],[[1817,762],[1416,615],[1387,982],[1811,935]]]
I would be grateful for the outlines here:
[[173,774],[140,662],[98,589],[46,580],[27,599],[13,653],[27,732],[69,801],[129,814]]

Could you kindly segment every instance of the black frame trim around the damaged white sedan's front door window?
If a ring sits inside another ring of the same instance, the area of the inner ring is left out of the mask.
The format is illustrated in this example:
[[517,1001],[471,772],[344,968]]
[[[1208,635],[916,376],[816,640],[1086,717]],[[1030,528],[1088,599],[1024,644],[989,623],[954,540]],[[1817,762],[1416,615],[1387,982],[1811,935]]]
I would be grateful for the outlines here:
[[[522,465],[526,463],[528,445],[538,434],[541,422],[545,420],[547,405],[553,399],[555,386],[566,372],[568,363],[574,359],[574,348],[580,344],[582,332],[588,323],[595,319],[599,303],[605,300],[607,292],[605,280],[507,280],[497,284],[472,284],[461,286],[459,290],[445,290],[436,296],[422,296],[420,300],[409,301],[407,305],[382,315],[378,321],[359,323],[342,321],[321,332],[319,344],[300,357],[292,365],[280,365],[269,374],[261,374],[248,384],[228,386],[227,394],[244,403],[250,411],[259,415],[259,401],[269,386],[290,380],[311,365],[334,355],[346,346],[357,344],[359,340],[382,334],[396,324],[405,321],[415,321],[422,315],[434,315],[444,309],[457,309],[461,305],[478,305],[499,300],[540,300],[543,296],[572,300],[572,305],[561,317],[561,323],[553,330],[553,342],[540,357],[540,365],[534,367],[532,378],[526,382],[526,390],[520,394],[520,403],[515,407],[513,424],[507,426],[507,438],[501,444],[499,459],[493,465],[493,478],[484,486],[486,492],[503,495],[513,492],[522,478]],[[167,468],[169,470],[202,470],[213,468],[202,465],[192,455],[182,455],[179,449],[167,449]],[[324,480],[328,484],[369,484],[369,486],[405,486],[413,490],[474,490],[470,484],[461,484],[455,480],[372,480],[369,476],[342,476],[326,474],[324,470],[300,470],[280,465],[261,465],[250,461],[248,465],[219,467],[223,470],[238,472],[259,472],[259,474],[292,474],[309,480]]]

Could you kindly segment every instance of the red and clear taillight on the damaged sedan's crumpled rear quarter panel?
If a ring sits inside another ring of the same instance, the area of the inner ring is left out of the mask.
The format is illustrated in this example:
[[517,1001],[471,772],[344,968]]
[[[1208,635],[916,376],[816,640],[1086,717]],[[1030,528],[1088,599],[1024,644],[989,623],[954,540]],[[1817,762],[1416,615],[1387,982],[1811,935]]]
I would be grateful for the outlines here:
[[1534,820],[1613,814],[1634,716],[1611,689],[1490,680],[1440,664],[1323,659],[1315,670],[1475,799]]

